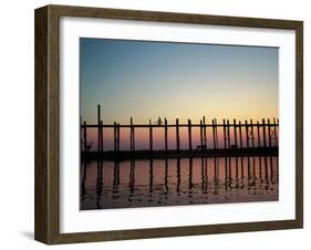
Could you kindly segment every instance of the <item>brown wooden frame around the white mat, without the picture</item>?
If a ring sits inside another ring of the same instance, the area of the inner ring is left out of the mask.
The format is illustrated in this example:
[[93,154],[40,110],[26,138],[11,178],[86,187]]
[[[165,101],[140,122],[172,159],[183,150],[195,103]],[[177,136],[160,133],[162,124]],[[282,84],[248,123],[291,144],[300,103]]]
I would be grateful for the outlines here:
[[[59,30],[61,17],[217,24],[296,31],[296,219],[267,222],[60,233]],[[46,6],[35,10],[35,240],[44,243],[125,240],[303,227],[303,23],[136,10]]]

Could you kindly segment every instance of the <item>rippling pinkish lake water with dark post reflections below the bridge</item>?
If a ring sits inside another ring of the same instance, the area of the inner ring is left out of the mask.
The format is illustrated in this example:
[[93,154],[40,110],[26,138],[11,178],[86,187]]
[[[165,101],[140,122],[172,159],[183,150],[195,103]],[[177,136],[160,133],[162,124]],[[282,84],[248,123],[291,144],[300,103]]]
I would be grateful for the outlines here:
[[91,160],[82,210],[278,200],[278,157]]

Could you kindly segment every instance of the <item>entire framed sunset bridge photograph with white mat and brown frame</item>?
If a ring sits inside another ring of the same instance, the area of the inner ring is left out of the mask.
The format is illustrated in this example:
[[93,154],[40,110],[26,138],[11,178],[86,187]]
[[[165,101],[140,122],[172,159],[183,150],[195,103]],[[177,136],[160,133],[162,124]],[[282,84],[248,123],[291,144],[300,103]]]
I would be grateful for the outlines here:
[[35,10],[35,239],[303,226],[303,23]]

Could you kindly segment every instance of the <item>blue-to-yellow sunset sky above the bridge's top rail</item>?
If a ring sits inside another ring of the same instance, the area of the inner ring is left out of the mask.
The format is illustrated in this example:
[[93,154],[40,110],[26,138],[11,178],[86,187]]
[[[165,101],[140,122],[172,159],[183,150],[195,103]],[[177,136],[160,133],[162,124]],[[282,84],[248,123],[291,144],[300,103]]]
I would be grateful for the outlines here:
[[278,48],[80,39],[81,116],[96,124],[278,117]]

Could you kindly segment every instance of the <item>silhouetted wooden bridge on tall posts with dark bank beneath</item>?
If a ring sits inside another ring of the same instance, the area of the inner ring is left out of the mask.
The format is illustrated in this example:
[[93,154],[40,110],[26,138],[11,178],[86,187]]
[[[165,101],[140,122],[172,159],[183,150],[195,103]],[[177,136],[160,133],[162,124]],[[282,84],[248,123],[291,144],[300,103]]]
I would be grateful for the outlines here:
[[[81,119],[82,121],[82,119]],[[188,128],[188,148],[180,149],[180,128]],[[87,145],[87,128],[97,128],[97,150],[91,152]],[[110,152],[103,150],[104,128],[113,128],[114,149]],[[121,129],[129,128],[129,150],[121,150]],[[139,128],[148,128],[149,148],[146,150],[135,149],[135,132]],[[154,129],[164,129],[164,148],[154,150]],[[168,148],[168,128],[176,131],[176,149]],[[193,145],[193,128],[199,128],[200,144]],[[207,128],[211,129],[211,142],[207,139]],[[190,119],[186,124],[180,124],[176,118],[175,124],[168,124],[164,118],[164,123],[158,122],[153,124],[134,124],[131,117],[129,124],[104,124],[101,118],[101,105],[97,105],[97,124],[81,123],[82,145],[81,152],[83,156],[103,157],[103,158],[169,158],[169,157],[201,157],[204,155],[277,155],[278,154],[278,132],[279,119],[262,118],[261,122],[253,123],[252,119],[241,123],[234,119],[222,119],[222,123],[217,123],[214,118],[210,124],[206,123],[205,116],[199,124],[193,124]],[[220,135],[218,134],[220,133]],[[222,145],[219,144],[219,138],[222,136]],[[243,140],[245,136],[245,140]],[[255,145],[255,140],[257,144]],[[208,145],[210,145],[208,147]]]

